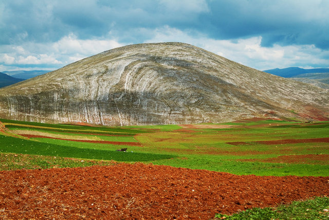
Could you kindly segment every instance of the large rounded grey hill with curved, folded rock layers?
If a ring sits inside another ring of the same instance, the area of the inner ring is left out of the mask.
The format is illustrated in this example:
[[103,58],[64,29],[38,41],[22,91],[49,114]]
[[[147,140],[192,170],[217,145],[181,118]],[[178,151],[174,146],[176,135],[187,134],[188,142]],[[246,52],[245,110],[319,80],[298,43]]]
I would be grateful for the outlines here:
[[329,91],[183,43],[104,51],[0,89],[0,118],[104,125],[329,120]]

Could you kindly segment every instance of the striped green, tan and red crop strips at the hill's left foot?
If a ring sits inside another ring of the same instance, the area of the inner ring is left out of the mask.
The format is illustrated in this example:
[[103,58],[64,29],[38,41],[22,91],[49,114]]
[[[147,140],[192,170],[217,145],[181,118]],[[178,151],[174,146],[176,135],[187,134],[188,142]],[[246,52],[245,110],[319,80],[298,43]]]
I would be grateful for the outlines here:
[[[141,144],[138,129],[43,124],[2,120],[8,134],[0,135],[0,152],[116,161],[153,161],[173,156],[133,152]],[[128,152],[116,152],[130,148]]]

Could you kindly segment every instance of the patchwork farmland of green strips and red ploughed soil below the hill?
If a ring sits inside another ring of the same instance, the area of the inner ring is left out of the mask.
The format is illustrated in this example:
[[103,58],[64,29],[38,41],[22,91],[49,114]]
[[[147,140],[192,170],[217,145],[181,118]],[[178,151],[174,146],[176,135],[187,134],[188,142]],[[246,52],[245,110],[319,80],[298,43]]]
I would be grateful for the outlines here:
[[[15,195],[0,194],[3,218],[207,219],[329,191],[328,122],[92,127],[0,121],[0,169],[36,169],[0,173],[1,190]],[[128,150],[116,151],[121,148]]]

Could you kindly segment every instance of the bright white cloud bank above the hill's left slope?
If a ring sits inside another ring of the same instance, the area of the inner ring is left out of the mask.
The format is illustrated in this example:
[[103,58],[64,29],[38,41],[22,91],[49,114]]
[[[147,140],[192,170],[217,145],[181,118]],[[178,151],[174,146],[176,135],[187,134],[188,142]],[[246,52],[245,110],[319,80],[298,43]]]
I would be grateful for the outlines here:
[[[54,43],[25,42],[22,45],[2,46],[1,49],[4,53],[0,53],[0,64],[44,64],[54,66],[53,69],[56,69],[104,50],[120,46],[122,45],[115,40],[80,40],[76,35],[69,34]],[[48,53],[45,53],[45,50]],[[43,67],[41,68],[45,69]],[[1,70],[3,71],[4,69]]]

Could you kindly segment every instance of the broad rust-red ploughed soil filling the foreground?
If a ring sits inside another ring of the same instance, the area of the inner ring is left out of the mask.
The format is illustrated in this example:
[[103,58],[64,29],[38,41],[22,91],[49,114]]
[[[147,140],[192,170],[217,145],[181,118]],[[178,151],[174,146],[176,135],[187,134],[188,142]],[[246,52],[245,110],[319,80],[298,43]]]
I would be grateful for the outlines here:
[[329,177],[238,176],[153,164],[0,172],[3,219],[209,219],[329,195]]

